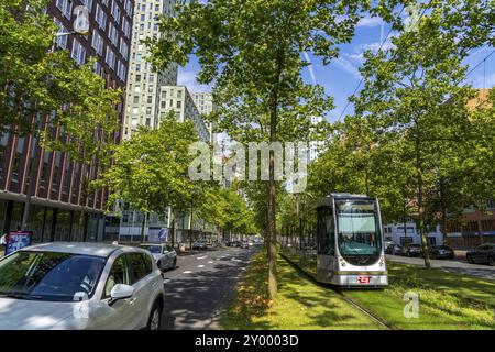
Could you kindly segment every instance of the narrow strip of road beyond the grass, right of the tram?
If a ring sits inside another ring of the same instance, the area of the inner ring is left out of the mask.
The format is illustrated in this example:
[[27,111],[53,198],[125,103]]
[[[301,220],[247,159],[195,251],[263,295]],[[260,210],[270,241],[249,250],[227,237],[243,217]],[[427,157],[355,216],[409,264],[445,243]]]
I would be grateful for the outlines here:
[[[425,260],[422,257],[408,257],[399,255],[387,254],[388,261],[424,265]],[[468,262],[460,261],[444,261],[444,260],[431,260],[431,266],[442,268],[457,274],[469,274],[474,276],[480,276],[483,278],[495,279],[495,266],[481,265],[481,264],[469,264]]]

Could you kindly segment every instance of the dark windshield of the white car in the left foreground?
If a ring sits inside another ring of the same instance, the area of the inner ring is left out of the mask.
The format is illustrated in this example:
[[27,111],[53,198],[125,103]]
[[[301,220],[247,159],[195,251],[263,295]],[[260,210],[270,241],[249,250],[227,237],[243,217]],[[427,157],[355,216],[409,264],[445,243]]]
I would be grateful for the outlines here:
[[106,258],[19,251],[0,261],[0,296],[53,301],[91,297]]

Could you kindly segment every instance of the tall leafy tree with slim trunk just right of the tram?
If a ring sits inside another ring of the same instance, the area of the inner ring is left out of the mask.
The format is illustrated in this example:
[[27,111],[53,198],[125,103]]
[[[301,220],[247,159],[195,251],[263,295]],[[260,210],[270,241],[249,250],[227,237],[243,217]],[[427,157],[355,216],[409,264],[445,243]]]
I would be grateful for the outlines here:
[[[392,50],[367,52],[361,70],[365,88],[353,99],[356,116],[372,125],[380,148],[396,145],[399,148],[394,154],[402,155],[403,165],[414,170],[411,190],[427,267],[427,226],[438,219],[439,210],[444,219],[452,207],[462,205],[459,197],[464,198],[465,193],[461,195],[464,187],[459,182],[466,178],[462,177],[461,163],[469,157],[470,148],[477,147],[476,139],[471,139],[466,109],[473,90],[461,84],[466,74],[462,61],[470,48],[465,45],[477,41],[459,41],[459,12],[446,11],[455,11],[454,3],[431,3],[414,32],[393,38]],[[448,182],[454,179],[455,185]]]

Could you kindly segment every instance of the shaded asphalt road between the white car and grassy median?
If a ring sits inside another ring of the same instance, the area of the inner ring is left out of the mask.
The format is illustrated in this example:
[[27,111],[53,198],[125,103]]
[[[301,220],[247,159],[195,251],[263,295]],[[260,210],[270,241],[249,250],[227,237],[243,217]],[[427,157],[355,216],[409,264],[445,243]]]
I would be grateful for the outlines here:
[[222,309],[256,248],[200,251],[179,256],[177,267],[164,273],[164,330],[216,329]]

